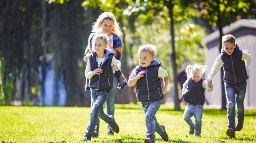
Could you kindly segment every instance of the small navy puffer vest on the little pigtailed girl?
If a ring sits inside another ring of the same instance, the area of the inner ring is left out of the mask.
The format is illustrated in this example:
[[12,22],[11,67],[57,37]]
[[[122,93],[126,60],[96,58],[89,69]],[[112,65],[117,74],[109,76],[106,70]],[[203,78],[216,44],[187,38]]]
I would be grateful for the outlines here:
[[186,92],[182,95],[183,100],[194,105],[203,105],[205,101],[205,89],[202,83],[205,79],[195,82],[192,77],[189,78],[189,83]]

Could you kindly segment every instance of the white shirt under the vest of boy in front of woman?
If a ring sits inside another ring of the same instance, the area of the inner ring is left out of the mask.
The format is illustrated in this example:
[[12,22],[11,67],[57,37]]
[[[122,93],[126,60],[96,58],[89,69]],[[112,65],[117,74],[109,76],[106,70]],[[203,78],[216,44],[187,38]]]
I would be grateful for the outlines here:
[[[105,59],[105,57],[104,58],[96,57],[96,61],[97,61],[98,67],[102,66],[102,63],[103,63],[104,59]],[[117,65],[118,66],[118,70],[120,70],[120,68],[121,68],[121,62],[119,60],[117,60],[114,56],[112,58],[111,65]],[[86,64],[86,68],[85,68],[85,77],[88,78],[88,79],[91,79],[93,77],[92,72],[93,71],[91,71],[90,60],[88,60],[88,62]]]

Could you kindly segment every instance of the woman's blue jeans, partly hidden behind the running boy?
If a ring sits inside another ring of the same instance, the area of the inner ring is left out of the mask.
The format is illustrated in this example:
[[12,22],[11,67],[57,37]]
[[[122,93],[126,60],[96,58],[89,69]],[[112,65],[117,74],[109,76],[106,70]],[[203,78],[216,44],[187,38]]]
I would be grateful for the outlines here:
[[[113,81],[113,88],[110,90],[109,96],[105,102],[106,105],[106,112],[108,115],[113,115],[115,113],[115,91],[116,91],[116,87],[118,85],[118,80],[116,75],[114,74],[114,81]],[[93,106],[93,100],[91,99],[91,108]],[[98,118],[97,124],[96,125],[100,125],[100,120]]]

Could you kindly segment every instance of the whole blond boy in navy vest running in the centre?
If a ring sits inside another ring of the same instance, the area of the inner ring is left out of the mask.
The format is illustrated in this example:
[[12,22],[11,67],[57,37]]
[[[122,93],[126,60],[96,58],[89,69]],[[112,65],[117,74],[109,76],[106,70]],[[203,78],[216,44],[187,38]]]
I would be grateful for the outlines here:
[[[155,142],[155,132],[164,141],[169,137],[163,125],[159,125],[155,114],[161,105],[163,94],[166,93],[169,76],[166,70],[161,67],[155,56],[156,47],[154,45],[144,45],[138,50],[139,66],[132,70],[129,76],[128,86],[136,84],[137,100],[141,102],[141,107],[145,113],[146,136],[144,143]],[[163,87],[160,78],[163,78]]]

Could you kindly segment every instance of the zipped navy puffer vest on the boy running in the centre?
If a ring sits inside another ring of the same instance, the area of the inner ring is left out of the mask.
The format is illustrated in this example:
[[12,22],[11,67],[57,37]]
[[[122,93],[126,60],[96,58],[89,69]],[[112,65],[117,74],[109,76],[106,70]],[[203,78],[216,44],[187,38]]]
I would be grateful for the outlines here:
[[144,77],[141,77],[136,83],[136,96],[140,102],[149,102],[162,100],[161,79],[158,77],[158,68],[161,63],[154,59],[150,66],[144,68],[141,65],[136,66],[136,74],[145,70]]

